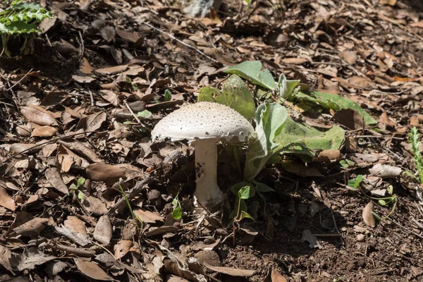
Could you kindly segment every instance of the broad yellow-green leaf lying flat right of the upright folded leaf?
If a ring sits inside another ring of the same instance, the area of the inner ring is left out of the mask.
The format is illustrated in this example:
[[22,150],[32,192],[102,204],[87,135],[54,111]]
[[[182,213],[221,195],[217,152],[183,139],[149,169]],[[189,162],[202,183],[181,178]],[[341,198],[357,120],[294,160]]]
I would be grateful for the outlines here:
[[345,131],[338,127],[320,131],[306,123],[286,118],[274,142],[283,147],[283,153],[297,154],[305,161],[315,157],[317,151],[339,149],[343,145]]

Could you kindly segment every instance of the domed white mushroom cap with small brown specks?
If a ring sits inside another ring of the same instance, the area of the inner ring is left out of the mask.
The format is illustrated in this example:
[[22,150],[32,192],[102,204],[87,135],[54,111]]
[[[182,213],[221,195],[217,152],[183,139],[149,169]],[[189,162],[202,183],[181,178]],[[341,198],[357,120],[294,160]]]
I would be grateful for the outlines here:
[[250,122],[238,111],[219,103],[199,102],[183,106],[159,121],[152,130],[152,140],[170,138],[172,141],[186,139],[217,142],[237,137],[243,142],[254,132]]

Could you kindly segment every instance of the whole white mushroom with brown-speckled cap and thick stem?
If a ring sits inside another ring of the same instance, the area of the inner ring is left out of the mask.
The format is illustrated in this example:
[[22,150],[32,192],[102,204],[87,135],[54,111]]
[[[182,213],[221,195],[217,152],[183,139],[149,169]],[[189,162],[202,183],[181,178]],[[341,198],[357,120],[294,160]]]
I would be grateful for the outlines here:
[[207,209],[215,209],[223,201],[217,185],[216,143],[244,142],[254,133],[249,121],[237,111],[218,103],[200,102],[184,106],[168,114],[152,130],[152,140],[188,140],[195,147],[197,174],[194,192],[198,202]]

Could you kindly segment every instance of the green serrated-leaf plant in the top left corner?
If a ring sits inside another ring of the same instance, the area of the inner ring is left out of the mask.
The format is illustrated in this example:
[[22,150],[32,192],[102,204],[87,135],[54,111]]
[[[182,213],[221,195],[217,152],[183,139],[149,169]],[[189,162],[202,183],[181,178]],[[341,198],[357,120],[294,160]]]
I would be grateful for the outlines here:
[[0,35],[3,52],[11,56],[7,44],[11,37],[23,36],[24,42],[20,51],[30,54],[33,51],[32,40],[39,32],[38,24],[44,18],[51,18],[52,14],[39,4],[13,1],[4,11],[0,11]]

